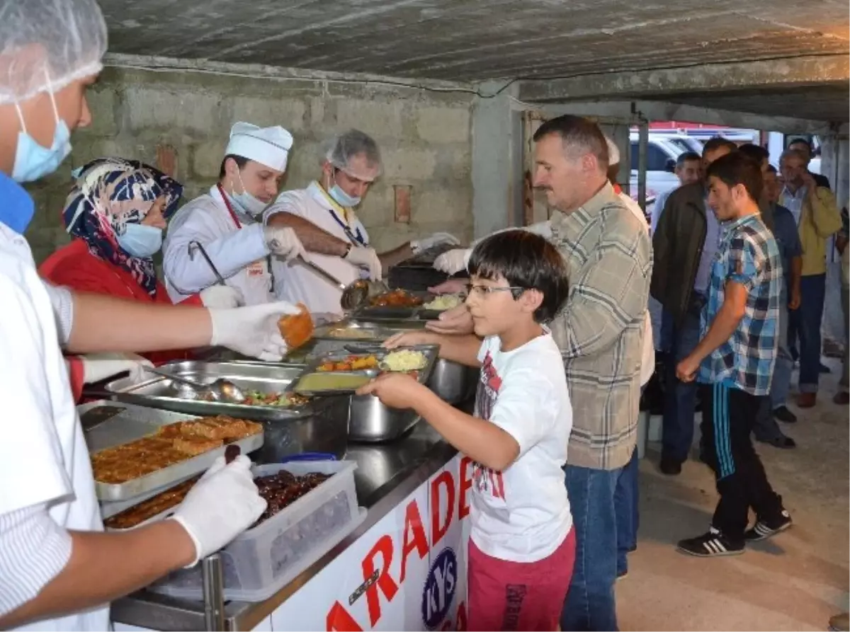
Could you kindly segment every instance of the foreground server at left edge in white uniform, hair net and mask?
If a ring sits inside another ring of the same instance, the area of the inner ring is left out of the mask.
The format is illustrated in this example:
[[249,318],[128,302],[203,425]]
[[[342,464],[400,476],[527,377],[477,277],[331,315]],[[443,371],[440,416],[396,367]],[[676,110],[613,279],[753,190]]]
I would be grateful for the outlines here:
[[292,305],[153,306],[51,288],[23,236],[20,183],[54,172],[91,114],[106,26],[95,0],[0,3],[0,629],[108,632],[111,600],[226,545],[265,508],[250,461],[218,460],[173,519],[102,533],[60,342],[71,353],[224,345],[280,359]]

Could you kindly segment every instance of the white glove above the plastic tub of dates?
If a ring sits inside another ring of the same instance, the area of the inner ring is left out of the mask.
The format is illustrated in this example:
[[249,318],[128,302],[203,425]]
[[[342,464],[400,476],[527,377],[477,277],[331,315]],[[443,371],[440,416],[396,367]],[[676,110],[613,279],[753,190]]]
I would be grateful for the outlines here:
[[229,544],[256,522],[266,505],[254,484],[248,457],[237,456],[226,466],[224,456],[214,460],[172,516],[195,543],[195,561],[189,567]]

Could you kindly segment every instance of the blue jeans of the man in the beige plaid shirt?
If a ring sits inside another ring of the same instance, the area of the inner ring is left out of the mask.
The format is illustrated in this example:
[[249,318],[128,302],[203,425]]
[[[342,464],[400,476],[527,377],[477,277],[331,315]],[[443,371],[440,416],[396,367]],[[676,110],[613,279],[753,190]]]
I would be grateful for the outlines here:
[[564,466],[575,528],[575,568],[561,612],[564,632],[617,632],[615,489],[624,469]]

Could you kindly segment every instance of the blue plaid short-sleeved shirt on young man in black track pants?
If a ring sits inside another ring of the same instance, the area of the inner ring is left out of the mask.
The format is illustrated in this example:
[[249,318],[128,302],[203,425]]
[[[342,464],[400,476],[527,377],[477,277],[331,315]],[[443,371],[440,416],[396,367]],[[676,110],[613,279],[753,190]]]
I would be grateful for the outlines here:
[[702,336],[723,305],[727,281],[745,286],[746,308],[732,337],[703,360],[700,382],[727,382],[751,395],[768,394],[779,341],[782,279],[779,245],[762,217],[748,215],[730,224],[711,267]]

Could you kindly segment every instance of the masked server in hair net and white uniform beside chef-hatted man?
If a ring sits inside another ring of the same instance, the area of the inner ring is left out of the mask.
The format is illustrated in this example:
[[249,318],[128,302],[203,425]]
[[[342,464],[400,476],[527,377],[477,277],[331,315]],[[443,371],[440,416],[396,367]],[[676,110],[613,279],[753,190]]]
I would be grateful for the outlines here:
[[[306,189],[284,191],[263,214],[269,227],[295,229],[309,258],[344,285],[361,277],[380,279],[388,268],[434,245],[458,245],[451,234],[436,233],[377,254],[354,212],[381,173],[375,141],[359,130],[333,138],[321,161],[321,177]],[[298,262],[272,262],[275,296],[303,302],[311,313],[340,313],[342,291]]]

